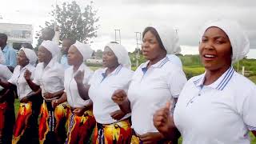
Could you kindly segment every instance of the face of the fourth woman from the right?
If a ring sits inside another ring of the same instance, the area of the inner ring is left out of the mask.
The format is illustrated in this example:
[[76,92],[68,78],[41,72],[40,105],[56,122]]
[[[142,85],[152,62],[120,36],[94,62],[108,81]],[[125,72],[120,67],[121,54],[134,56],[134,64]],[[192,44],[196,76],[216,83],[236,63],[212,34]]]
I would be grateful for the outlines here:
[[82,54],[75,46],[70,46],[70,49],[67,54],[67,62],[71,66],[81,65],[82,63]]

